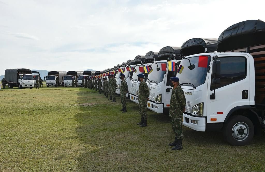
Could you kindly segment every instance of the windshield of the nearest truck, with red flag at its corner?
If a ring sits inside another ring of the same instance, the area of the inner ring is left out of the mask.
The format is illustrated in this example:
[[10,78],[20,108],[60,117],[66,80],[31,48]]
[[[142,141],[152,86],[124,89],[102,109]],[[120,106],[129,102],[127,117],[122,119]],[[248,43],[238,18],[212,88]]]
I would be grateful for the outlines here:
[[[207,71],[211,61],[208,56],[189,57],[192,65],[195,65],[193,70],[189,70],[189,60],[182,59],[179,65],[177,77],[180,83],[191,83],[195,87],[205,83]],[[199,62],[200,59],[200,62]],[[189,85],[189,84],[184,84]]]

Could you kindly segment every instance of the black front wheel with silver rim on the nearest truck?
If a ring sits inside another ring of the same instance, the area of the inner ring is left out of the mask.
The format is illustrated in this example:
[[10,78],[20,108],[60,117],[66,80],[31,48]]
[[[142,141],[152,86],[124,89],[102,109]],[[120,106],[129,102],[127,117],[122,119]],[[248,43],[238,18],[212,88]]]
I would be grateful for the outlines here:
[[234,146],[244,146],[249,144],[253,138],[254,125],[247,117],[235,115],[224,124],[223,135],[228,143]]

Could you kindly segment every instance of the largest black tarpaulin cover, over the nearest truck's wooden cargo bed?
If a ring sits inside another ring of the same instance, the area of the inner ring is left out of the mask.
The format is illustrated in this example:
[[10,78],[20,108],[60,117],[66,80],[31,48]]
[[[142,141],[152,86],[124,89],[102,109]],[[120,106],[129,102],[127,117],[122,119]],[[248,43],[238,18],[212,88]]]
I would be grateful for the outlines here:
[[251,47],[264,44],[265,23],[261,20],[247,20],[233,24],[218,38],[217,51]]

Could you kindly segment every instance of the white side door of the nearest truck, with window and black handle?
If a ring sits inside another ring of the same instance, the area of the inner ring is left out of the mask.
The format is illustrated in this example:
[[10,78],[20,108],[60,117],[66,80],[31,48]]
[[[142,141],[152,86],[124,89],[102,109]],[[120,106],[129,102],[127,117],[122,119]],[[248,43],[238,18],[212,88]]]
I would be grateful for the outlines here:
[[[218,55],[221,62],[220,84],[216,84],[215,99],[213,75],[210,67],[207,85],[207,123],[222,123],[229,111],[238,106],[250,105],[249,57],[241,54]],[[212,66],[212,63],[211,63]]]

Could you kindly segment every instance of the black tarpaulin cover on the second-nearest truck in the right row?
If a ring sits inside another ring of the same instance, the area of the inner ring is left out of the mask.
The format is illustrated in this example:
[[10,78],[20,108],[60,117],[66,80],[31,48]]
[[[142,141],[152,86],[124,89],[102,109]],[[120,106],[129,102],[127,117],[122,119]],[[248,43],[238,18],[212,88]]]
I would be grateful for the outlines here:
[[184,42],[180,49],[181,56],[214,52],[217,49],[217,39],[215,38],[192,38]]

